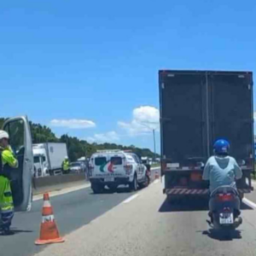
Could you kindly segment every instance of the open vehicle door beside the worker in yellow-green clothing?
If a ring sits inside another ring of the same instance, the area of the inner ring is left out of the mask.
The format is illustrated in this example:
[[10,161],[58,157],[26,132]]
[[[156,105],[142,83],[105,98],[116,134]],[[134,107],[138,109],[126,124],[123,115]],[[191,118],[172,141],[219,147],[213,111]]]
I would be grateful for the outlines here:
[[9,144],[13,149],[19,167],[10,173],[11,189],[15,210],[29,211],[32,207],[32,136],[26,117],[7,119],[3,130],[9,133]]

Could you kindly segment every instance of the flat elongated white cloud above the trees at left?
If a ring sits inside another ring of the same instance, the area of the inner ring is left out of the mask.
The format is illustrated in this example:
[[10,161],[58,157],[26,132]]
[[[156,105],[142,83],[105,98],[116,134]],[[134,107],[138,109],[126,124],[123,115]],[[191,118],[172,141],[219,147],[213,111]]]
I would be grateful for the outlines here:
[[49,124],[55,127],[67,127],[70,129],[87,129],[96,126],[93,121],[86,119],[52,119]]

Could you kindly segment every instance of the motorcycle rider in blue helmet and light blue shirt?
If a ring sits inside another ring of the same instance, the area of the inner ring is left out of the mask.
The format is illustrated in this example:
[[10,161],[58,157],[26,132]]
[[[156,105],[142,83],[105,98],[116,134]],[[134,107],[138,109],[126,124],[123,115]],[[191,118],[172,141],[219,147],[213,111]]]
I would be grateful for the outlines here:
[[[229,155],[230,143],[224,139],[219,139],[213,145],[213,153],[207,160],[207,164],[204,168],[203,179],[209,180],[210,192],[218,189],[221,186],[230,186],[236,189],[236,179],[242,177],[240,166],[238,166],[236,160]],[[237,216],[240,214],[240,200],[236,197],[235,208]],[[209,216],[212,221],[212,209],[214,207],[214,199],[210,198],[209,201]]]

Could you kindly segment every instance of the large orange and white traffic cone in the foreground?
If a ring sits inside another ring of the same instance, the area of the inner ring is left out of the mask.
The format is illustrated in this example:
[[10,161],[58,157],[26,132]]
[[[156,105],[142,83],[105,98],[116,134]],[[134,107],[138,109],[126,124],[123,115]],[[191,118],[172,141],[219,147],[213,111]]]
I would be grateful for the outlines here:
[[40,238],[35,241],[36,245],[65,241],[60,235],[55,224],[55,217],[49,202],[49,194],[44,194],[44,206],[42,209],[42,223]]

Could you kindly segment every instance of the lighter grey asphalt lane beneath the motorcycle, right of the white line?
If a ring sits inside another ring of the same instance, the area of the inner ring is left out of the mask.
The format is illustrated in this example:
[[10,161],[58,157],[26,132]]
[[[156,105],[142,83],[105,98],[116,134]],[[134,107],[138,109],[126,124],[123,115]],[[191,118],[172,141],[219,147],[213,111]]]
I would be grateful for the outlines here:
[[38,256],[255,256],[255,209],[242,205],[243,224],[231,236],[213,233],[207,201],[166,203],[161,183],[132,195]]

